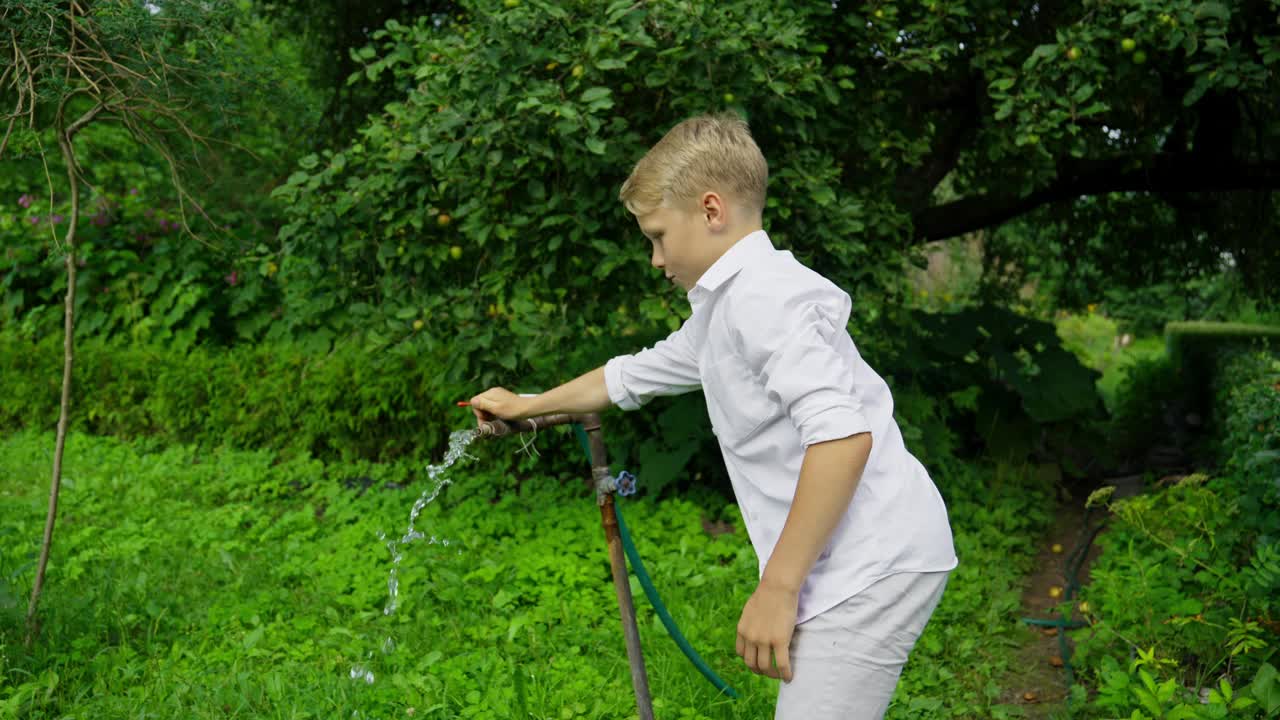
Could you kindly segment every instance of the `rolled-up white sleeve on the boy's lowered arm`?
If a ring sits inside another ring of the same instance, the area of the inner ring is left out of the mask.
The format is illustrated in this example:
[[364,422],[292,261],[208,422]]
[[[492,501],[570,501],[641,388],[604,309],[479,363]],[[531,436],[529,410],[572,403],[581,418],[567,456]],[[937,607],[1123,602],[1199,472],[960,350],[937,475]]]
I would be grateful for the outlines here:
[[841,337],[847,301],[832,305],[759,307],[755,322],[740,325],[748,366],[785,409],[806,448],[872,430],[854,383],[856,351],[851,341],[845,351],[840,347],[849,340]]

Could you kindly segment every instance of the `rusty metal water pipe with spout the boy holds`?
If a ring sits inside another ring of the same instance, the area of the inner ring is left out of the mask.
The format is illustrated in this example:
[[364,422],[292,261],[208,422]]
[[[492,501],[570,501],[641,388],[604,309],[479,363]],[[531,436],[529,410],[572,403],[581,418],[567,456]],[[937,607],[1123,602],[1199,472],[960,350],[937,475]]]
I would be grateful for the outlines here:
[[562,413],[525,420],[480,420],[477,430],[480,437],[498,438],[573,423],[582,425],[590,445],[591,479],[589,487],[595,491],[595,501],[600,507],[600,524],[604,527],[604,542],[609,547],[609,566],[613,570],[613,589],[618,596],[618,612],[622,616],[622,635],[627,642],[627,660],[631,664],[631,687],[636,692],[636,708],[640,711],[640,720],[653,720],[649,676],[645,674],[644,653],[640,650],[640,630],[636,628],[635,603],[631,601],[631,583],[627,579],[627,561],[622,550],[622,536],[618,533],[618,514],[613,507],[613,492],[617,488],[612,475],[609,475],[604,434],[600,430],[600,415],[596,413],[581,415]]

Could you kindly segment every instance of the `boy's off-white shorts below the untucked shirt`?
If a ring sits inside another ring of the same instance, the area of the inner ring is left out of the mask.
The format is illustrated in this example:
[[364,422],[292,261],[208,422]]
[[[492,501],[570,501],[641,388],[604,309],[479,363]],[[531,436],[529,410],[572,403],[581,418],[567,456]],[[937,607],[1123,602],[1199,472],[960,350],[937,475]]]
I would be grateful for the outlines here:
[[899,573],[796,625],[774,720],[879,720],[948,571]]

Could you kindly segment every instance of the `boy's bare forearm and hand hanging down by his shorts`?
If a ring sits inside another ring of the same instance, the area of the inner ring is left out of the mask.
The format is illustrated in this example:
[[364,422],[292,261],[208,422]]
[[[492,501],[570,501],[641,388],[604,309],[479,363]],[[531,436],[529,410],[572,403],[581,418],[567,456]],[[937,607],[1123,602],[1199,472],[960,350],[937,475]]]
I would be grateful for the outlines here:
[[805,450],[782,534],[737,624],[737,653],[753,671],[791,682],[790,646],[800,587],[849,509],[870,452],[870,433],[817,442]]

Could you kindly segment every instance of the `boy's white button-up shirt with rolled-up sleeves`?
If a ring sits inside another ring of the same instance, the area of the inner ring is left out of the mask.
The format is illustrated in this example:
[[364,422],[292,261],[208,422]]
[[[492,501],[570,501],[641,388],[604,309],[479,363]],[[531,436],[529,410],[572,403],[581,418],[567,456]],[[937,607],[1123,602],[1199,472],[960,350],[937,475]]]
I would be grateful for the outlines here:
[[756,231],[707,269],[689,301],[692,315],[678,331],[611,359],[605,384],[623,410],[703,388],[762,575],[805,448],[872,433],[870,459],[800,591],[796,623],[887,575],[954,569],[942,496],[902,443],[888,386],[854,347],[849,295]]

